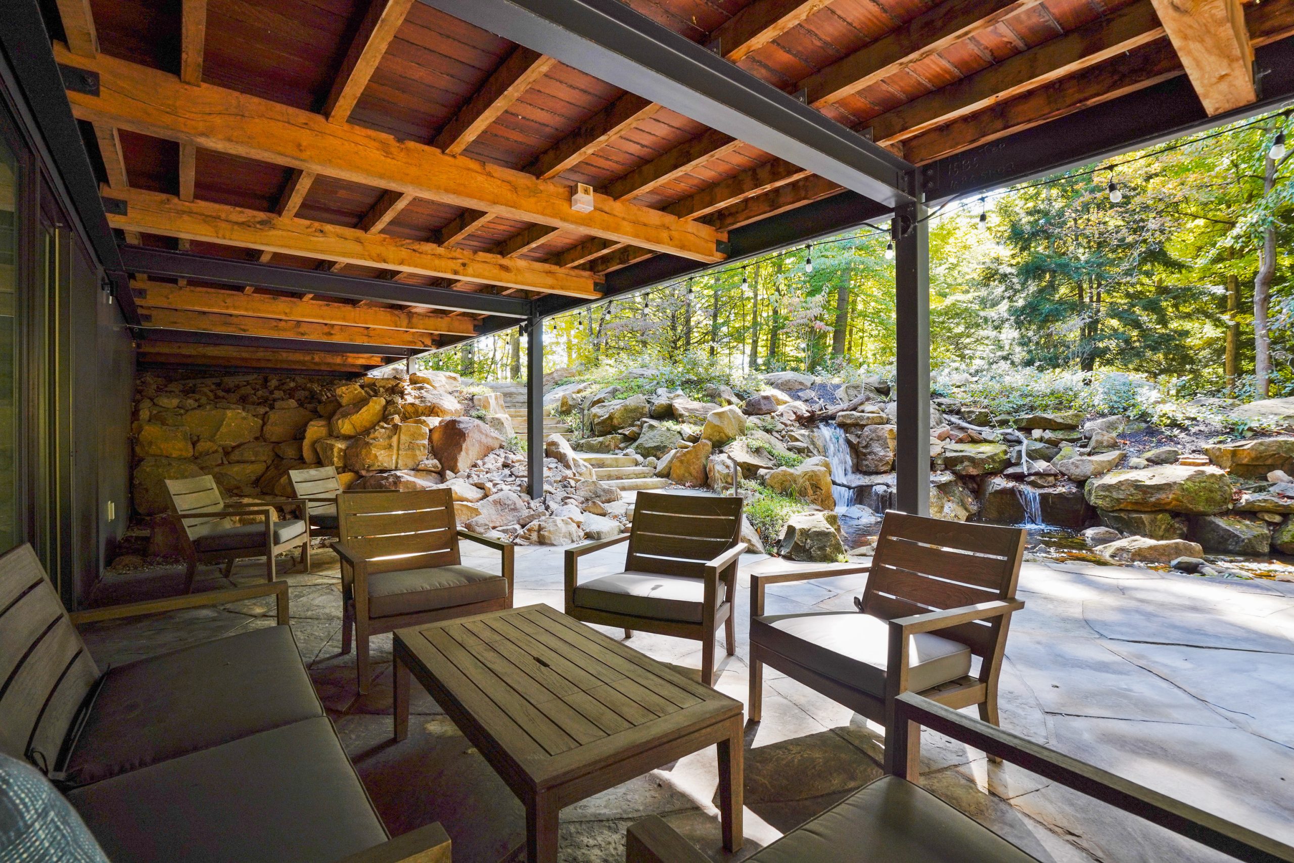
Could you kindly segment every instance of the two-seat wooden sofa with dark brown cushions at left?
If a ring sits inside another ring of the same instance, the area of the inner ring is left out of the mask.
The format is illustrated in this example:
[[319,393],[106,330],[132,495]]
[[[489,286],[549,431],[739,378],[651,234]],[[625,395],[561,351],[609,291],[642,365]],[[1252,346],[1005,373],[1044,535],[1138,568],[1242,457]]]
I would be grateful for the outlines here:
[[114,863],[448,862],[439,824],[389,840],[302,665],[287,585],[239,590],[277,596],[283,625],[101,670],[31,546],[0,556],[0,752],[54,781]]

